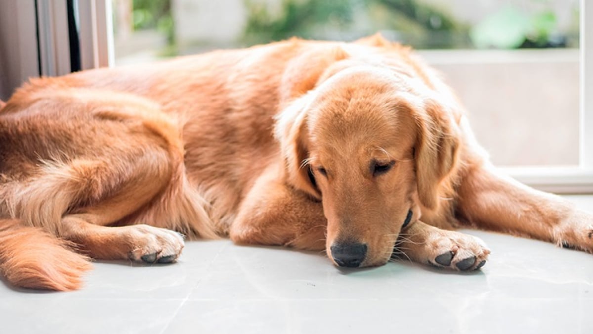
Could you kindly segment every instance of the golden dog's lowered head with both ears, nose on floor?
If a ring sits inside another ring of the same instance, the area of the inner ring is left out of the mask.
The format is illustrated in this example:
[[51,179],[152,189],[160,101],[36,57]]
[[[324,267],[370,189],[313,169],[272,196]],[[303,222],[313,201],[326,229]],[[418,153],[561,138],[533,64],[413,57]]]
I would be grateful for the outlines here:
[[437,210],[455,168],[445,106],[390,71],[341,68],[278,116],[286,180],[323,203],[327,254],[339,266],[386,263],[400,231]]

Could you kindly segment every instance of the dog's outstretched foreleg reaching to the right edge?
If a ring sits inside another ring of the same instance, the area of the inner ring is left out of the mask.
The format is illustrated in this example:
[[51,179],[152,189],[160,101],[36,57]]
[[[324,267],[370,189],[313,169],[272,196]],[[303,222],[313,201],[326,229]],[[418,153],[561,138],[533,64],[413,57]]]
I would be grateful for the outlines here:
[[492,167],[468,171],[458,195],[457,215],[462,222],[593,251],[592,215],[562,197],[500,175]]

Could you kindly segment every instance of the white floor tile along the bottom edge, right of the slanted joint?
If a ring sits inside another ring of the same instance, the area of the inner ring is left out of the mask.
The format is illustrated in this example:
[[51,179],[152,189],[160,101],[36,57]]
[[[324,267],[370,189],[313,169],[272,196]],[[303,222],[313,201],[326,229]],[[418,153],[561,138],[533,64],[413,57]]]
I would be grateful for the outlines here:
[[187,301],[164,333],[591,333],[573,300]]

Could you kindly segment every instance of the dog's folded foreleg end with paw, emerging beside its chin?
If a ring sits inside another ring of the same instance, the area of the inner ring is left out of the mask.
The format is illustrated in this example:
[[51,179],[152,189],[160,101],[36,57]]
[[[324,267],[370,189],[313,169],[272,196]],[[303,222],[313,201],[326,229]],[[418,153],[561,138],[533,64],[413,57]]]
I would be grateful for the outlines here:
[[394,256],[454,270],[480,269],[490,250],[472,235],[447,231],[418,220],[402,231]]

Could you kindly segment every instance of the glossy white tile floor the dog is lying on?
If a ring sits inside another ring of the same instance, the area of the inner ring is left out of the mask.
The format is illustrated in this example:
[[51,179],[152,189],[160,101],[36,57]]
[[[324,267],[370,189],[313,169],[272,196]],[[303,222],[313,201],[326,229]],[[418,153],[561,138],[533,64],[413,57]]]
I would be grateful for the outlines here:
[[[593,211],[593,196],[572,196]],[[593,333],[593,255],[466,231],[481,272],[406,262],[340,270],[320,254],[187,242],[180,261],[95,263],[81,291],[0,282],[0,333]]]

